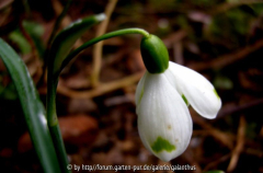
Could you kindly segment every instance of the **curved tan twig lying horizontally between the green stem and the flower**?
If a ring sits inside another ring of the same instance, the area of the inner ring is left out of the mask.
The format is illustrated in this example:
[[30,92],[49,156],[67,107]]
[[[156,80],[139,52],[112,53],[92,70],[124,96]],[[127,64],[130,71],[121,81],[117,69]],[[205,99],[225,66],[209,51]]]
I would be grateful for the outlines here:
[[58,83],[57,92],[73,99],[90,99],[90,97],[102,95],[110,91],[129,86],[138,82],[142,74],[144,72],[138,72],[121,80],[116,80],[108,83],[102,83],[98,88],[91,91],[73,91]]

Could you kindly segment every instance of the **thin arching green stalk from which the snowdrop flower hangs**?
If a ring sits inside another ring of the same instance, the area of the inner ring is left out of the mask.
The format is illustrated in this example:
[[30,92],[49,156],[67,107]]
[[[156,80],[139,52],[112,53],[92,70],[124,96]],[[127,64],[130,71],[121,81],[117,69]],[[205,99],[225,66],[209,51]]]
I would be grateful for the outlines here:
[[[80,46],[79,48],[75,49],[73,51],[71,51],[62,61],[60,71],[68,65],[68,62],[75,57],[77,56],[80,51],[82,51],[83,49],[88,48],[91,45],[96,44],[98,42],[107,39],[107,38],[112,38],[115,36],[121,36],[121,35],[126,35],[126,34],[141,34],[144,35],[144,37],[149,37],[149,33],[146,32],[145,30],[141,28],[125,28],[125,30],[119,30],[119,31],[115,31],[112,33],[106,33],[102,36],[95,37],[87,43],[84,43],[82,46]],[[60,72],[59,71],[59,72]]]

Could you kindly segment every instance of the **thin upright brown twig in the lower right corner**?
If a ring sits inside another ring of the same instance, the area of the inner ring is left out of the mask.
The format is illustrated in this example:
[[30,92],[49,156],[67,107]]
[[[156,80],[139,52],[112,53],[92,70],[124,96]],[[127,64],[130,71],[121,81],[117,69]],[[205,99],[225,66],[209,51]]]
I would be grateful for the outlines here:
[[244,116],[241,116],[238,128],[237,146],[232,151],[232,155],[230,159],[230,163],[227,168],[227,172],[232,172],[237,166],[239,155],[242,152],[244,146],[244,134],[245,134],[245,119]]

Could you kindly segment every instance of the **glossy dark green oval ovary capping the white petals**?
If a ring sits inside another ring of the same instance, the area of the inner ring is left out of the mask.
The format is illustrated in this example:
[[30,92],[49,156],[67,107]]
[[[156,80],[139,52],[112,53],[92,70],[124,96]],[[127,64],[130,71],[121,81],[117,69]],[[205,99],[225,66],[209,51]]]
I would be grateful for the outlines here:
[[163,42],[149,35],[140,42],[140,51],[147,70],[150,73],[161,73],[168,69],[169,54]]

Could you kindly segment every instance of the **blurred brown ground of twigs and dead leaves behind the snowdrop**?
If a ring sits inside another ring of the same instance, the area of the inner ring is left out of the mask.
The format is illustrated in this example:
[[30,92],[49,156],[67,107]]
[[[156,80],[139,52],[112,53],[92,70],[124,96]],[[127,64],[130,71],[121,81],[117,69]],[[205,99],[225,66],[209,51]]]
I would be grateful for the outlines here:
[[[0,36],[25,61],[44,104],[46,49],[66,5],[67,0],[0,0]],[[59,30],[105,11],[111,15],[108,24],[93,26],[75,47],[103,33],[103,28],[145,28],[162,38],[170,60],[201,72],[215,85],[222,107],[213,120],[190,107],[194,131],[187,150],[170,163],[160,161],[146,150],[137,130],[135,90],[145,71],[141,36],[107,39],[101,51],[99,82],[90,78],[93,59],[100,56],[94,46],[72,60],[59,79],[57,113],[70,163],[196,168],[175,171],[185,173],[263,172],[263,2],[72,0]],[[15,88],[1,60],[0,170],[42,172]]]

